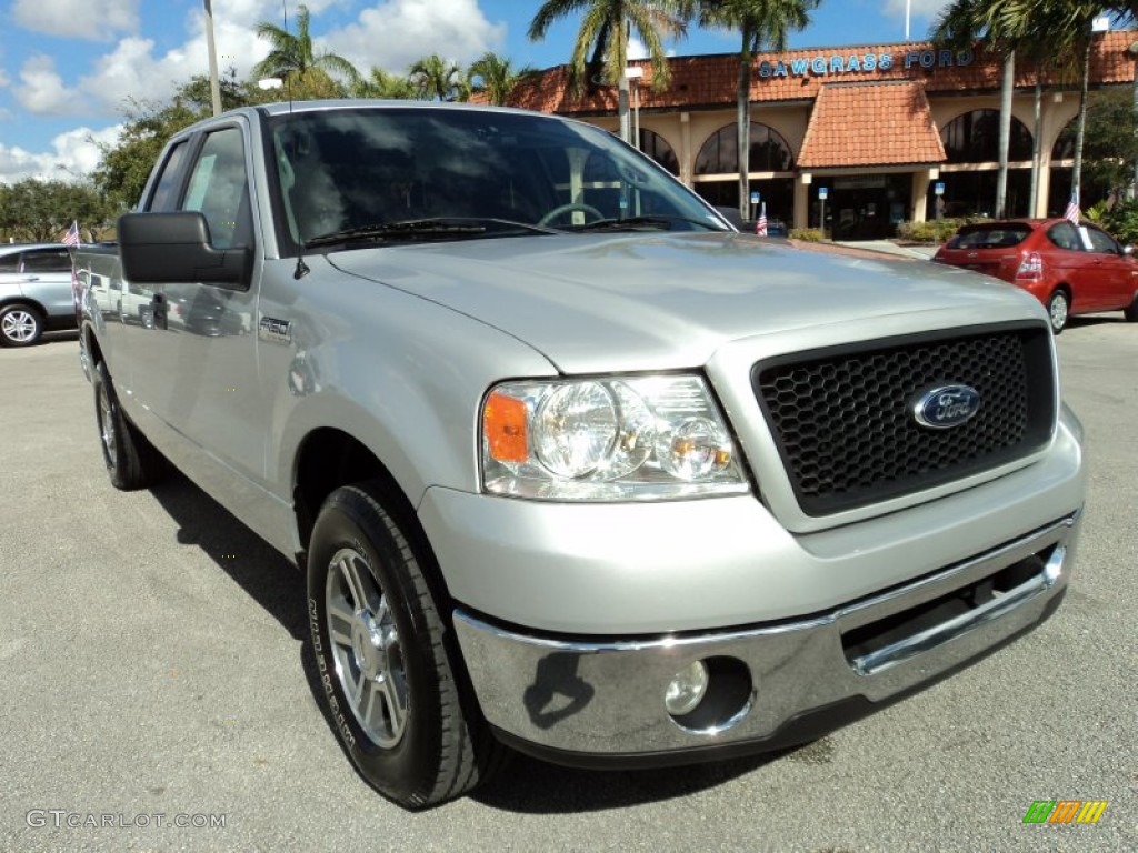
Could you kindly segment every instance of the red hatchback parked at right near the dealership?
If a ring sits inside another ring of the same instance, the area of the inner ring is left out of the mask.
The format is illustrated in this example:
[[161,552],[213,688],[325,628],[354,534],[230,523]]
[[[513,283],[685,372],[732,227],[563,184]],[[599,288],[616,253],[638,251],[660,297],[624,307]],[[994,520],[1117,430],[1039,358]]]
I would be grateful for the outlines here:
[[995,275],[1017,284],[1041,301],[1052,331],[1067,317],[1123,310],[1138,321],[1138,263],[1133,247],[1088,222],[1013,220],[965,225],[933,260]]

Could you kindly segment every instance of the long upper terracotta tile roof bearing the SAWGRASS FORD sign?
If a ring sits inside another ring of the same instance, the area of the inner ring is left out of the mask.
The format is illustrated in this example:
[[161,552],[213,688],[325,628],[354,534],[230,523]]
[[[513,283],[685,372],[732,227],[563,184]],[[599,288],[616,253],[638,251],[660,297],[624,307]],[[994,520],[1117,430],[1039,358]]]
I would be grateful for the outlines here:
[[[1095,40],[1091,52],[1091,81],[1095,84],[1129,83],[1135,78],[1135,60],[1127,48],[1135,40],[1130,31],[1103,33]],[[865,61],[873,56],[873,68]],[[882,68],[880,57],[890,57],[890,67]],[[815,59],[825,60],[825,73],[795,73]],[[838,76],[832,71],[834,58],[841,58],[844,71]],[[857,63],[851,64],[850,59]],[[999,88],[1001,63],[999,58],[980,52],[966,65],[941,65],[945,59],[927,42],[901,42],[893,44],[869,44],[847,48],[803,48],[785,53],[759,53],[753,58],[754,73],[751,82],[751,100],[794,101],[813,100],[828,84],[835,82],[881,83],[898,80],[920,80],[926,92],[970,92],[996,90]],[[932,67],[923,65],[930,64]],[[953,60],[955,63],[955,59]],[[762,76],[764,63],[769,73]],[[778,63],[785,68],[785,76],[777,74]],[[651,88],[652,68],[646,61],[640,63],[644,76],[640,82],[642,109],[700,109],[720,108],[734,105],[735,83],[739,77],[739,56],[716,53],[710,56],[675,57],[668,60],[671,85],[654,92]],[[849,66],[853,65],[853,68]],[[906,67],[908,65],[909,67]],[[1045,81],[1057,84],[1054,76]],[[1034,71],[1021,65],[1016,69],[1016,86],[1030,88],[1036,83]],[[1067,81],[1067,84],[1072,84]],[[536,75],[535,80],[520,86],[512,99],[517,107],[528,107],[546,113],[567,115],[603,115],[617,109],[617,90],[602,88],[591,94],[575,96],[569,89],[568,66],[556,66]]]

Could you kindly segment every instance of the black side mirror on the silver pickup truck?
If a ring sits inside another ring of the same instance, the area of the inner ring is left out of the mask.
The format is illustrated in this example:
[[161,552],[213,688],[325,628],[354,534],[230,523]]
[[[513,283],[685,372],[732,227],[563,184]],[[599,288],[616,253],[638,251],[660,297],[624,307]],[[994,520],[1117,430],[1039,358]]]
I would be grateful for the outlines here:
[[138,284],[200,282],[249,285],[253,249],[215,249],[209,224],[198,212],[138,213],[118,217],[123,278]]

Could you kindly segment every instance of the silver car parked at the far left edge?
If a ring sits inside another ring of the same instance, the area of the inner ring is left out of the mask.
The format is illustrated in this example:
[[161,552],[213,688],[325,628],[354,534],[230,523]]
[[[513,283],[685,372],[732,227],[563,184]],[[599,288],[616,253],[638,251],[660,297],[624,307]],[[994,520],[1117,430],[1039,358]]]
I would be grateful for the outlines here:
[[26,347],[75,328],[71,252],[63,243],[0,246],[0,346]]

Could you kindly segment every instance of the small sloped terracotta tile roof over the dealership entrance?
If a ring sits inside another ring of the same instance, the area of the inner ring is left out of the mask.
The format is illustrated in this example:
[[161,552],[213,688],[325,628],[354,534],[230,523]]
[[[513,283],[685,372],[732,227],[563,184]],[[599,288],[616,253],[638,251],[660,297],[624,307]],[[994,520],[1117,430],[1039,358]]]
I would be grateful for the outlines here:
[[798,165],[892,166],[943,159],[924,83],[889,81],[822,86]]

